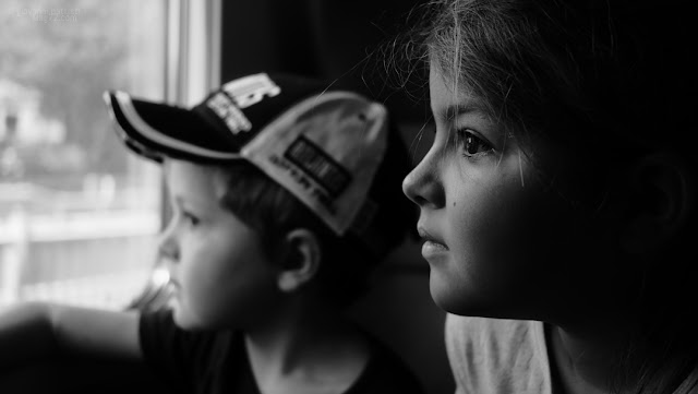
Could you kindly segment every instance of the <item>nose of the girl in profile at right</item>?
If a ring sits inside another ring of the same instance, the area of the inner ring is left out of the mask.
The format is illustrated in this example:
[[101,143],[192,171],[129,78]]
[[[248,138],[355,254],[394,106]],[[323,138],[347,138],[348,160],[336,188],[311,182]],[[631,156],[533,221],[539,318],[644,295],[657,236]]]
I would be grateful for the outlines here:
[[438,159],[431,150],[402,180],[402,192],[420,207],[440,208],[445,204],[444,188],[438,177]]

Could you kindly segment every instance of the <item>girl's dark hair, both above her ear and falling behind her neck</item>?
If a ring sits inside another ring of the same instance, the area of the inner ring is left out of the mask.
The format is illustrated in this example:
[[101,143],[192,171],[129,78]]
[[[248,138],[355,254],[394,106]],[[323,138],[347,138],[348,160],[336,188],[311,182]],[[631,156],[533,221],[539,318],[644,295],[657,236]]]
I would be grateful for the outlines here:
[[[678,2],[436,0],[412,14],[419,21],[393,55],[407,53],[417,70],[435,67],[454,92],[478,96],[525,148],[530,138],[566,146],[586,157],[600,188],[613,181],[611,167],[653,152],[696,166],[695,22]],[[664,393],[696,374],[696,222],[694,211],[646,273],[618,386]]]

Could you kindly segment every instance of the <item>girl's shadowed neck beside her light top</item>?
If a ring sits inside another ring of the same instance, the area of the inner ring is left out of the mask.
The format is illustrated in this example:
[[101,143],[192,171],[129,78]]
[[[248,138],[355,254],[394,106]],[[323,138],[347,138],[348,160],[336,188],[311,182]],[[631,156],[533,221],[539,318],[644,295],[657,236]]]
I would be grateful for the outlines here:
[[639,280],[619,279],[622,271],[606,273],[595,294],[561,298],[556,309],[541,319],[550,323],[551,366],[556,367],[565,394],[623,393],[627,387],[622,385],[633,381],[626,357],[639,324],[640,288]]

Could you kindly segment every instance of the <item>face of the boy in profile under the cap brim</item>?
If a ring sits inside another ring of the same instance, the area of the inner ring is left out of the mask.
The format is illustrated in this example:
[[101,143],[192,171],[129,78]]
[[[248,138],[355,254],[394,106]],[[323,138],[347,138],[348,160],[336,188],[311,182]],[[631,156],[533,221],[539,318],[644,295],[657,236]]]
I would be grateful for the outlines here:
[[174,321],[183,329],[249,329],[278,294],[260,237],[221,207],[212,167],[169,159],[165,170],[173,216],[160,250]]

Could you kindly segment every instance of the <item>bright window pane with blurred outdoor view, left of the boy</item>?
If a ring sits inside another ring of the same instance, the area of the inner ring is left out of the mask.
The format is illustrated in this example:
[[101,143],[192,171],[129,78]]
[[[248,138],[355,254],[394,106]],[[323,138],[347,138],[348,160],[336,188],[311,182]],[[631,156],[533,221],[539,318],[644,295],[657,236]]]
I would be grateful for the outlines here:
[[0,307],[123,308],[144,287],[161,174],[103,92],[161,100],[167,0],[0,3]]

